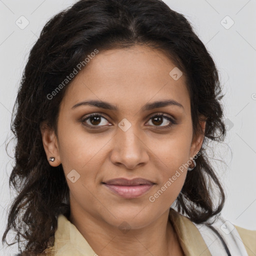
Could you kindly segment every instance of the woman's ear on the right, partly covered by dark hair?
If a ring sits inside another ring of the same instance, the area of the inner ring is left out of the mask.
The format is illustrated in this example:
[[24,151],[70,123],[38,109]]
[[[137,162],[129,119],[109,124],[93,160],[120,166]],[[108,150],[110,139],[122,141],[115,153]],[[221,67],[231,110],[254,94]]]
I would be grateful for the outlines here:
[[195,154],[197,154],[198,151],[201,149],[203,138],[204,138],[206,119],[207,118],[204,115],[199,116],[199,124],[201,127],[201,131],[197,132],[193,136],[191,147],[190,147],[190,157],[195,156]]

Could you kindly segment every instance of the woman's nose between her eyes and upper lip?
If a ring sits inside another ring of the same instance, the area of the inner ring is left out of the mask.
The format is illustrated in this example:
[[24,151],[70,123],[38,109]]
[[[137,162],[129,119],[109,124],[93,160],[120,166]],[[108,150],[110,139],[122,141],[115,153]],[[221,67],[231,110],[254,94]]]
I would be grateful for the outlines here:
[[135,130],[133,125],[126,131],[118,128],[112,143],[110,160],[115,165],[124,165],[126,169],[134,169],[149,160],[149,148],[145,143],[144,135]]

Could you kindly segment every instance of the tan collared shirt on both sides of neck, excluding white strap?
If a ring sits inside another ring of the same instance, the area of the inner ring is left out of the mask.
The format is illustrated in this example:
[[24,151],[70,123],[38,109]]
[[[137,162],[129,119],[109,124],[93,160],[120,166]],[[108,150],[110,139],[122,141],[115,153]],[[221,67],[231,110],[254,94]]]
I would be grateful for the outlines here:
[[[199,230],[187,217],[170,209],[169,219],[174,226],[185,256],[211,256]],[[234,225],[246,248],[248,256],[256,255],[256,230]],[[57,219],[53,256],[97,256],[88,242],[64,215]],[[236,255],[235,255],[236,256]],[[238,256],[238,255],[237,255]]]

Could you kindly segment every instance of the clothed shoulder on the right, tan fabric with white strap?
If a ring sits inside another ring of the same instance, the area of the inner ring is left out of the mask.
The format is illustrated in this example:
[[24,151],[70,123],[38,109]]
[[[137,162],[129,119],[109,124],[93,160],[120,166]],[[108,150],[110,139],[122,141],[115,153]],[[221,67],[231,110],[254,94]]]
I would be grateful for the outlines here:
[[[196,252],[192,255],[256,255],[256,230],[236,226],[221,215],[196,224],[174,210],[170,212],[175,230],[183,241],[184,251]],[[205,250],[198,251],[205,246]]]

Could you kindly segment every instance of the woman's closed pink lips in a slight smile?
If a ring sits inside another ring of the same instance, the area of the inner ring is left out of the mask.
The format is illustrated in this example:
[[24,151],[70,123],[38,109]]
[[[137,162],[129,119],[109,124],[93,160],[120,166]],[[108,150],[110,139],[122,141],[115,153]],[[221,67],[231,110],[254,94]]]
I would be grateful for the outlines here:
[[102,183],[111,191],[124,198],[138,197],[155,184],[144,178],[115,178]]

